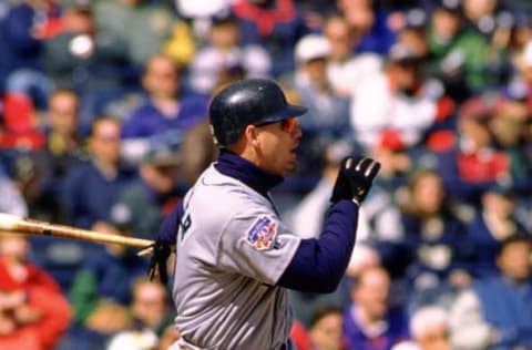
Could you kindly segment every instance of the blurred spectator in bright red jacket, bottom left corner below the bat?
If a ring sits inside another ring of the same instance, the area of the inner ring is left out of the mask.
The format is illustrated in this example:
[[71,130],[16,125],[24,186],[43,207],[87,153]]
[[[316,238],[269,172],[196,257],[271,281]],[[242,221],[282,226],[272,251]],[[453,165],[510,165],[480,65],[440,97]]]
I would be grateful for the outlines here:
[[20,234],[0,234],[0,348],[53,349],[64,336],[71,307],[55,280],[31,264]]

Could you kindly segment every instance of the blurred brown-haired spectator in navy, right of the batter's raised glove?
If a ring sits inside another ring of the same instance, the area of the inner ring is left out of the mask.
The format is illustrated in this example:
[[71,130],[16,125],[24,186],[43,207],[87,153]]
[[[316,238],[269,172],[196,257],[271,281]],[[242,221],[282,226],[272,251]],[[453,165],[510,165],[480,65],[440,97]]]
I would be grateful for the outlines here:
[[471,279],[467,268],[473,246],[460,213],[448,200],[438,173],[419,169],[410,175],[408,197],[400,206],[405,238],[398,250],[411,258],[405,269],[411,308],[444,302]]

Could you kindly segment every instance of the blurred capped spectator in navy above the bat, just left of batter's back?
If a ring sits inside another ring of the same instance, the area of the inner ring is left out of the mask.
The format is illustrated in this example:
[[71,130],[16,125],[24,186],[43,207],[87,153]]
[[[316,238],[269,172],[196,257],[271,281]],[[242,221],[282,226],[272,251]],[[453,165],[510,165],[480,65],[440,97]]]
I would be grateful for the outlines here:
[[158,225],[183,198],[181,145],[152,142],[139,166],[139,178],[124,187],[111,208],[131,219],[129,229],[140,238],[153,239]]

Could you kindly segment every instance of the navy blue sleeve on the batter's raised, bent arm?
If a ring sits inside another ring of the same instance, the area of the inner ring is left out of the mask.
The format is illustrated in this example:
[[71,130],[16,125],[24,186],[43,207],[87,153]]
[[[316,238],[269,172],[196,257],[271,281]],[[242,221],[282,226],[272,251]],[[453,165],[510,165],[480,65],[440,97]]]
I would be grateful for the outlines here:
[[319,239],[303,239],[278,285],[305,292],[332,292],[349,264],[358,224],[358,206],[340,200],[327,214]]

